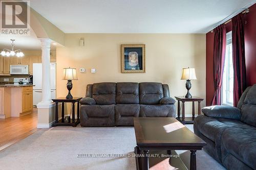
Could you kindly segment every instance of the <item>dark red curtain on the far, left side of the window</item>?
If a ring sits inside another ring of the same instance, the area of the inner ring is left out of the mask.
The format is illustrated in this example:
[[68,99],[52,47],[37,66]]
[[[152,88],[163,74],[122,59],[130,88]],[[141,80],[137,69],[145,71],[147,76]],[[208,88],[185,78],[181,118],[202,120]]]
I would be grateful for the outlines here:
[[211,105],[221,105],[221,85],[226,52],[226,26],[223,23],[214,29],[214,98]]

